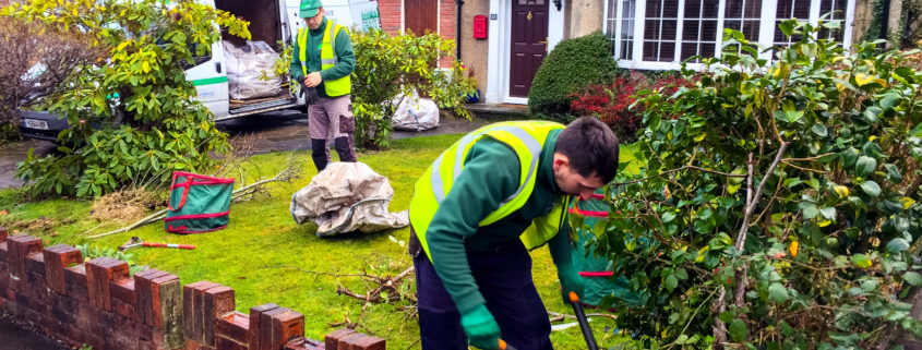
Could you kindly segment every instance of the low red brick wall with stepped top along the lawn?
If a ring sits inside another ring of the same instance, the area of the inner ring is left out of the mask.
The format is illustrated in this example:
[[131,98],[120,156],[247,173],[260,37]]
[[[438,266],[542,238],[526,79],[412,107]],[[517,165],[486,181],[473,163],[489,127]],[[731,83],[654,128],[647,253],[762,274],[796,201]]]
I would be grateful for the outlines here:
[[110,257],[83,262],[65,244],[43,248],[0,228],[0,309],[48,336],[94,350],[383,350],[384,339],[339,329],[323,342],[304,338],[304,315],[264,304],[235,311],[234,289],[182,285],[148,269],[130,276]]

